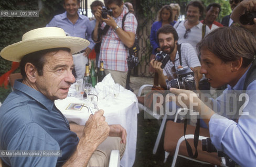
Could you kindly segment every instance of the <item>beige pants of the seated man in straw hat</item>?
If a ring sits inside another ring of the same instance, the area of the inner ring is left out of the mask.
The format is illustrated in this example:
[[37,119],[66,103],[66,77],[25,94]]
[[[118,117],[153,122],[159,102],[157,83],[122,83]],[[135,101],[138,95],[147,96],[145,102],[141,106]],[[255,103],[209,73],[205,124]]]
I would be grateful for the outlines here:
[[120,137],[108,137],[93,152],[87,167],[104,167],[109,166],[109,158],[112,150],[119,150],[120,159],[123,157],[125,145],[120,144]]

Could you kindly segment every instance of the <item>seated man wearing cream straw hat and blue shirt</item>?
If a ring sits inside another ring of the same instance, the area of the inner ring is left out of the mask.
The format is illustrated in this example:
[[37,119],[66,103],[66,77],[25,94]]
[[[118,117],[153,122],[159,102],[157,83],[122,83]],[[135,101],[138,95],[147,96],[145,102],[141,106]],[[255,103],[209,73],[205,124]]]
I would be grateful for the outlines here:
[[[88,45],[82,38],[67,37],[60,28],[45,27],[25,33],[22,41],[1,51],[3,58],[20,62],[23,80],[15,81],[14,91],[0,108],[0,150],[62,151],[50,157],[2,157],[5,164],[107,166],[110,150],[123,154],[126,130],[120,125],[109,126],[103,110],[90,115],[86,126],[69,125],[54,103],[67,97],[75,81],[72,53]],[[70,129],[79,132],[80,139]],[[106,139],[108,136],[121,138]]]

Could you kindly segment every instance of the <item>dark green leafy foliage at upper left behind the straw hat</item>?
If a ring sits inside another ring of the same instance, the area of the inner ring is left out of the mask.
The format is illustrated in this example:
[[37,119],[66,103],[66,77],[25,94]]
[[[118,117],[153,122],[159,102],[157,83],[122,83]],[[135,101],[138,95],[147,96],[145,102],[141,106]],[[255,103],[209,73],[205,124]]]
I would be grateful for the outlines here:
[[[0,10],[39,10],[39,1],[35,0],[8,0],[0,1]],[[39,17],[0,17],[0,50],[5,46],[22,40],[22,35],[32,29],[45,27],[51,18],[63,12],[63,0],[41,0],[42,9]],[[12,62],[0,57],[0,76],[10,70]],[[17,69],[15,72],[19,71]],[[10,89],[0,87],[0,101],[3,102]]]

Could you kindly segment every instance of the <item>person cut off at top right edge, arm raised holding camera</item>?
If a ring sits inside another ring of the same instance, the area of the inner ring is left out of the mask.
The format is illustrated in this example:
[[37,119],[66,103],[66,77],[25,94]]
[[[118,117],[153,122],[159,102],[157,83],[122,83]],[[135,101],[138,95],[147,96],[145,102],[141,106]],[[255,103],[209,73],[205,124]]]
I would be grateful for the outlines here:
[[[253,25],[243,25],[240,22],[240,17],[246,13],[254,13]],[[235,22],[238,22],[243,28],[251,31],[254,36],[256,36],[256,1],[255,0],[244,0],[236,8],[233,9],[233,12],[230,16]]]

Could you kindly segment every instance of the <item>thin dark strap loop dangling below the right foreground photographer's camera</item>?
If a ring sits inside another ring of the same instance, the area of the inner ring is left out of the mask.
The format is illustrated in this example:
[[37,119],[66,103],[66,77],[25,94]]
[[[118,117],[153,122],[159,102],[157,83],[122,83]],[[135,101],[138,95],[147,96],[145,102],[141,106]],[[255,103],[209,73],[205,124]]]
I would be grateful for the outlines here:
[[190,158],[197,158],[198,152],[197,152],[197,146],[198,146],[198,139],[199,139],[199,132],[200,132],[200,119],[197,118],[197,124],[196,124],[196,129],[195,129],[195,134],[194,134],[194,147],[196,149],[195,154],[193,154],[192,148],[189,145],[189,142],[187,141],[185,135],[186,135],[186,129],[187,129],[187,118],[184,120],[184,138],[186,142],[186,147],[187,147],[187,152],[188,156]]

